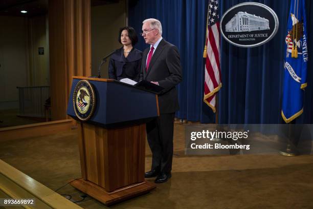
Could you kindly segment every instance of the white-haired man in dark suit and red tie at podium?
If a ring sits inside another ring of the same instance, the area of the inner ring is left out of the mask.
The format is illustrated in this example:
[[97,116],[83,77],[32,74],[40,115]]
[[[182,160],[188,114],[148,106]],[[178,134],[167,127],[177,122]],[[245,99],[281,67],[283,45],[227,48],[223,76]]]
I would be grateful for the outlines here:
[[182,81],[182,67],[177,47],[162,38],[159,20],[144,20],[142,31],[150,47],[143,52],[140,79],[164,88],[159,95],[160,116],[146,124],[152,166],[145,177],[157,176],[155,183],[162,183],[171,177],[174,116],[179,109],[175,86]]

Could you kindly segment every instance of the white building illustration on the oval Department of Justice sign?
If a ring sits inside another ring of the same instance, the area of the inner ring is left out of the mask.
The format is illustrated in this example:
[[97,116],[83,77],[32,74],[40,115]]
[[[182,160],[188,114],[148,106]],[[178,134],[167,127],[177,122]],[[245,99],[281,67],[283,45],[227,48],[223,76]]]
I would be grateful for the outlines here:
[[247,12],[238,12],[225,25],[227,32],[246,32],[258,30],[270,30],[269,20],[264,17],[249,14]]

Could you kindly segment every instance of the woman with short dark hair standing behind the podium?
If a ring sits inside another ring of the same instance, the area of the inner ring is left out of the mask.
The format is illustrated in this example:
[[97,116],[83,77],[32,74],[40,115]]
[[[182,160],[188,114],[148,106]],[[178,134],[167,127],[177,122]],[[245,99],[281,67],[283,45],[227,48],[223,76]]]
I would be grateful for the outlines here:
[[122,48],[117,49],[111,55],[108,76],[110,79],[121,80],[129,78],[139,81],[142,52],[133,46],[138,42],[135,29],[132,27],[123,27],[119,31],[119,43]]

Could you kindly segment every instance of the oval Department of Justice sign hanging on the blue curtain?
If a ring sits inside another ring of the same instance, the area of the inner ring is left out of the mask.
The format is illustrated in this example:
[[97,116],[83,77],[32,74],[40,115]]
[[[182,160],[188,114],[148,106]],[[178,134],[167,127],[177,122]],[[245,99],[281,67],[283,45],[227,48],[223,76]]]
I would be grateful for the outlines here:
[[277,14],[270,7],[245,2],[228,9],[220,20],[220,32],[237,47],[257,47],[270,41],[278,31]]

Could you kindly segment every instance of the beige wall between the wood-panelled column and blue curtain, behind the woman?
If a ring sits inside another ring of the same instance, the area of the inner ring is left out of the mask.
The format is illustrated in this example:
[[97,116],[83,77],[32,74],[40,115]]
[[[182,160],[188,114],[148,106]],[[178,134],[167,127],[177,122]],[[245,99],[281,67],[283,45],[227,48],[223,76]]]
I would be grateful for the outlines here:
[[[98,74],[101,59],[121,47],[118,42],[119,29],[126,25],[125,0],[117,4],[92,7],[92,75]],[[107,78],[107,63],[101,67],[101,77]]]

